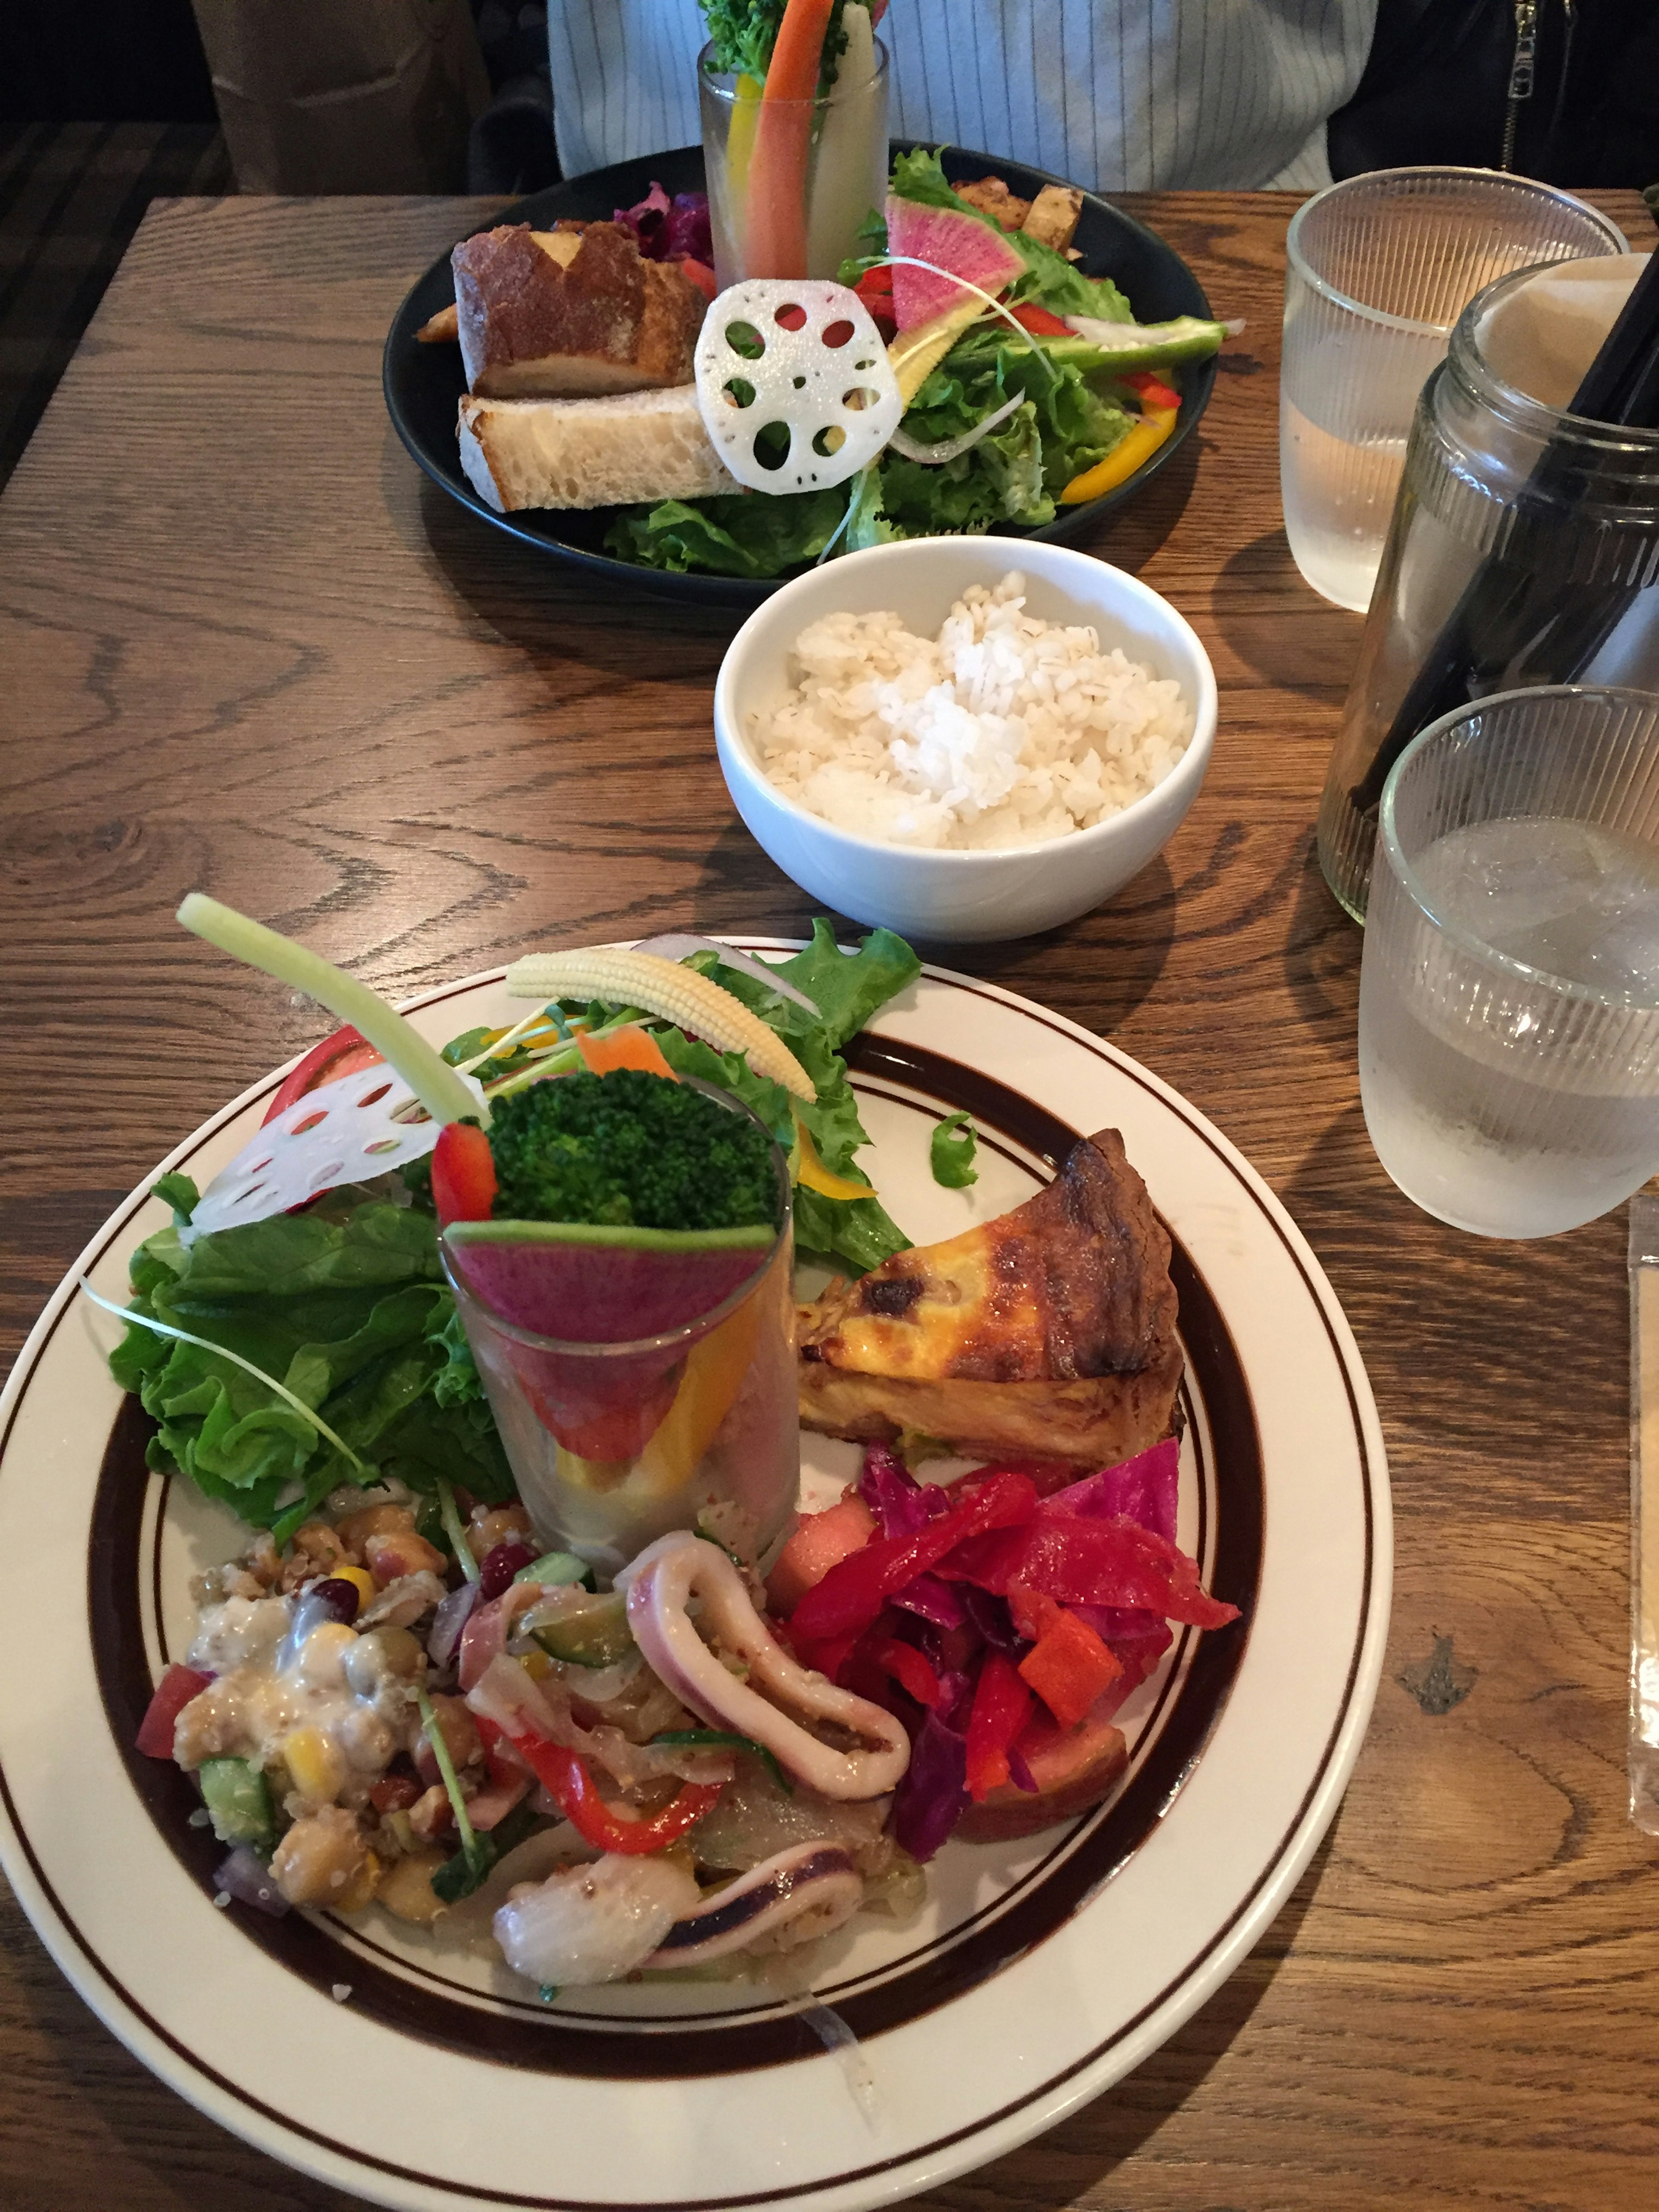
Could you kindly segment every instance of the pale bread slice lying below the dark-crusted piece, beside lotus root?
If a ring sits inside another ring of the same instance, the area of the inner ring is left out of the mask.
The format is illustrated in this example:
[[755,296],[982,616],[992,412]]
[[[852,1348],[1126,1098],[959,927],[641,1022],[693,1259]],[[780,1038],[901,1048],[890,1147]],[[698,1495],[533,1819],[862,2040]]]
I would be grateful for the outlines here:
[[743,489],[710,445],[697,385],[602,400],[462,396],[458,436],[467,480],[498,515]]

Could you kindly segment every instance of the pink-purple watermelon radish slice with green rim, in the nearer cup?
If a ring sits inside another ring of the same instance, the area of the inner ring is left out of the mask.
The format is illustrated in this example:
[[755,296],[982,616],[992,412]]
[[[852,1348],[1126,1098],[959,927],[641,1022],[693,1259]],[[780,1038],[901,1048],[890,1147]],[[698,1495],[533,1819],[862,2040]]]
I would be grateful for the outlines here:
[[[458,1287],[484,1307],[462,1305],[484,1378],[511,1369],[542,1427],[566,1451],[602,1462],[644,1451],[675,1405],[688,1352],[763,1274],[774,1248],[765,1221],[734,1230],[451,1221],[445,1230]],[[533,1345],[493,1321],[562,1345],[617,1349],[593,1358]],[[641,1343],[668,1334],[668,1345]]]

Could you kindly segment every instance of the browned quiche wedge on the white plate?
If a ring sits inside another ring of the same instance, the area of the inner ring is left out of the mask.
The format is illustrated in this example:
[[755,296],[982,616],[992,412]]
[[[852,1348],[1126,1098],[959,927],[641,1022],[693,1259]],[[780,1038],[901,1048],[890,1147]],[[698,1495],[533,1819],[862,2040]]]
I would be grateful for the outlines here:
[[807,1429],[1110,1467],[1175,1427],[1170,1239],[1104,1128],[1013,1212],[830,1283],[796,1343]]

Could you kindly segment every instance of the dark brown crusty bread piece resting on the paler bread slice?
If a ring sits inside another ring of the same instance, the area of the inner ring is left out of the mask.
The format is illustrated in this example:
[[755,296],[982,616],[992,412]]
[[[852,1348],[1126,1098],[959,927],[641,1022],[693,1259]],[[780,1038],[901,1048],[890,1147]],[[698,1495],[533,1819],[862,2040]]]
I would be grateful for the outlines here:
[[703,294],[675,265],[646,261],[622,223],[502,223],[462,239],[451,265],[476,398],[604,398],[692,380]]

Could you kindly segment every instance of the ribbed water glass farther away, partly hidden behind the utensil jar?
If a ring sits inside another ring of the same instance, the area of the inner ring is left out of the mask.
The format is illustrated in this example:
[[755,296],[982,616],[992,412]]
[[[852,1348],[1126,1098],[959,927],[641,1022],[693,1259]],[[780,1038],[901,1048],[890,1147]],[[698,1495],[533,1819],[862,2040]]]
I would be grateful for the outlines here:
[[1542,261],[1626,252],[1571,192],[1484,168],[1383,168],[1318,192],[1285,239],[1279,487],[1303,580],[1371,599],[1425,376],[1464,305]]

